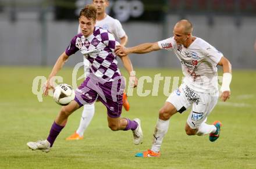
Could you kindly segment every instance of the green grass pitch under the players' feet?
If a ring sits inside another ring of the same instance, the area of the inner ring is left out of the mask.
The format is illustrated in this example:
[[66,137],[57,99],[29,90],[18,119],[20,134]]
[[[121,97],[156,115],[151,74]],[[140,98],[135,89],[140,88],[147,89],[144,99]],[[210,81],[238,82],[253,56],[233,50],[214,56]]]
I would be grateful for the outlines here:
[[[64,67],[59,73],[67,84],[71,84],[72,70]],[[163,81],[158,96],[139,97],[135,89],[129,97],[130,111],[122,113],[123,117],[141,119],[141,145],[133,145],[130,131],[111,131],[106,109],[98,102],[83,140],[65,141],[79,125],[81,110],[77,110],[69,117],[51,152],[27,148],[28,141],[47,137],[61,109],[51,97],[38,102],[31,92],[33,79],[37,75],[48,76],[50,71],[51,68],[43,67],[0,68],[0,168],[256,168],[256,71],[234,70],[231,98],[226,103],[219,100],[208,117],[208,123],[223,123],[218,141],[209,142],[208,135],[187,136],[187,111],[172,117],[161,157],[151,159],[136,158],[134,154],[151,148],[158,110],[166,100]],[[182,76],[181,70],[137,69],[138,78],[158,73]],[[145,82],[143,89],[152,90],[152,83]]]

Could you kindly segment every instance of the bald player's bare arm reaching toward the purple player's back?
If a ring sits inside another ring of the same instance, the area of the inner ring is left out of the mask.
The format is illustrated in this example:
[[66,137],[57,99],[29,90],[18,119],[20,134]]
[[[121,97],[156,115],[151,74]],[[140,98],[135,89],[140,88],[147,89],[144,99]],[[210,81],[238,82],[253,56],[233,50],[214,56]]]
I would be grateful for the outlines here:
[[137,53],[137,54],[143,54],[143,53],[149,53],[152,51],[158,51],[160,49],[158,42],[155,43],[145,43],[140,44],[131,48],[125,48],[125,46],[117,45],[115,48],[116,55],[119,56],[125,56],[129,53]]

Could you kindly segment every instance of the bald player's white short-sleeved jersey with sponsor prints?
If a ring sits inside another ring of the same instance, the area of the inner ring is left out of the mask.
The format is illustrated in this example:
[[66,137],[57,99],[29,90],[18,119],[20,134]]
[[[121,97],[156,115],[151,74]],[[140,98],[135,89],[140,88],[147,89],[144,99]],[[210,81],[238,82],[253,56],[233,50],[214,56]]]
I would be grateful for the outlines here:
[[223,54],[201,38],[188,48],[177,45],[174,37],[159,41],[161,49],[172,50],[182,64],[183,82],[194,91],[215,94],[218,92],[217,64]]

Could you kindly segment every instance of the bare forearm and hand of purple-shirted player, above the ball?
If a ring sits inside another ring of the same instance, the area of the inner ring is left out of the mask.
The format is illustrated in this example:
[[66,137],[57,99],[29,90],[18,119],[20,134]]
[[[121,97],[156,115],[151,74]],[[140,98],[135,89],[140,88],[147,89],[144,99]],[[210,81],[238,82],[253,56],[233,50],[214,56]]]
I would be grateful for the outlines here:
[[63,52],[61,54],[61,56],[59,56],[54,67],[52,68],[51,74],[49,74],[49,76],[48,76],[47,84],[44,87],[44,96],[47,96],[48,90],[53,88],[52,77],[54,77],[58,73],[58,71],[61,70],[61,68],[65,64],[67,58],[69,58],[69,56],[66,55],[66,52]]

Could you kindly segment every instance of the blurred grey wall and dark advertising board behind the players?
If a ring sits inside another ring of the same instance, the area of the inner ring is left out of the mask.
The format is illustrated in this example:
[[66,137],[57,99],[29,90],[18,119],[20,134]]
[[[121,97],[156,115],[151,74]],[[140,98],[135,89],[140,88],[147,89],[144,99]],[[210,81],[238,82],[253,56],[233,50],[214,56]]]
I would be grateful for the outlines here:
[[[108,13],[122,22],[127,46],[172,37],[180,19],[205,39],[234,69],[255,69],[256,0],[119,0]],[[0,0],[0,65],[49,66],[77,33],[78,13],[91,0]],[[136,67],[179,67],[172,52],[131,55]],[[68,65],[83,60],[80,53]]]

